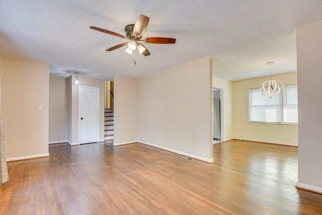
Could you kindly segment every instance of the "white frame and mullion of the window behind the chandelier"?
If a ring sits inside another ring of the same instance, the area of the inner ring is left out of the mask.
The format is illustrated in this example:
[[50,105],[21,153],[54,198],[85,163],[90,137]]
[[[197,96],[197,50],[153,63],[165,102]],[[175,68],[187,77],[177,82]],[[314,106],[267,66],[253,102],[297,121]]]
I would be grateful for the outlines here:
[[[296,85],[296,88],[297,88],[297,83],[295,84],[287,84],[287,85],[284,85],[284,86],[290,86],[290,85]],[[283,87],[283,92],[282,94],[280,95],[282,98],[281,98],[281,101],[282,101],[282,104],[281,104],[281,122],[262,122],[262,121],[251,121],[250,120],[250,115],[251,115],[251,96],[250,96],[250,92],[251,90],[257,90],[257,89],[260,89],[260,88],[249,88],[248,89],[248,123],[256,123],[256,124],[278,124],[278,125],[298,125],[298,122],[284,122],[284,101],[285,101],[285,98],[284,98],[284,92],[285,92],[285,89]],[[298,107],[298,102],[297,102],[297,107]],[[298,110],[298,109],[297,109]]]

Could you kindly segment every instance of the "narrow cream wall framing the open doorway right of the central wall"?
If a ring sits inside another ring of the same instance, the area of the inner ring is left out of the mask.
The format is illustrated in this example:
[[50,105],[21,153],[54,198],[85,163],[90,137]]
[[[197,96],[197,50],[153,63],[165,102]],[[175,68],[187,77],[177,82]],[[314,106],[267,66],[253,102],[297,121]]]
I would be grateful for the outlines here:
[[[215,68],[213,68],[215,69]],[[232,106],[233,106],[233,95],[232,95],[232,82],[220,79],[217,77],[212,77],[212,86],[215,88],[222,89],[222,98],[220,98],[221,101],[223,101],[223,120],[224,120],[224,127],[223,127],[223,141],[227,141],[231,138],[233,138],[233,112],[232,112]]]

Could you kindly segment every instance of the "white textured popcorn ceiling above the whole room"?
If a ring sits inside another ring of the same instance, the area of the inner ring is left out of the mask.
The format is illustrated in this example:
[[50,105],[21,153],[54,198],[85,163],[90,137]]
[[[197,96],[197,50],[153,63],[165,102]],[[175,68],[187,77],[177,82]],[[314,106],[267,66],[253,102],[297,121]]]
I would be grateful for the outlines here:
[[[139,78],[213,56],[214,76],[230,81],[296,71],[295,28],[322,20],[322,1],[0,1],[0,51],[50,63],[50,75],[113,80]],[[129,55],[125,34],[140,14],[144,37],[176,38],[146,44],[151,55]],[[136,65],[133,61],[136,61]]]

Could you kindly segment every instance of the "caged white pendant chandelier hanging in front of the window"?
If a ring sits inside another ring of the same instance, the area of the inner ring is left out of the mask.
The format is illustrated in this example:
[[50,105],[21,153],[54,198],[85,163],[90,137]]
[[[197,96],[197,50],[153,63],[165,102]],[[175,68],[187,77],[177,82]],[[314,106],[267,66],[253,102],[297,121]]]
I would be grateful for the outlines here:
[[270,65],[270,80],[261,84],[261,95],[264,97],[272,98],[281,95],[283,84],[280,81],[274,81],[271,77],[271,67],[274,62],[267,62],[266,65]]

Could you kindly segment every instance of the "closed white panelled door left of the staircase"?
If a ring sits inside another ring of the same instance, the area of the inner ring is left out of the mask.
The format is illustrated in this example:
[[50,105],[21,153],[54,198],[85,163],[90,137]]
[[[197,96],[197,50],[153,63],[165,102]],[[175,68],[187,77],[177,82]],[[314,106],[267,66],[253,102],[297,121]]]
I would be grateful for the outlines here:
[[100,89],[78,87],[79,144],[99,141]]

